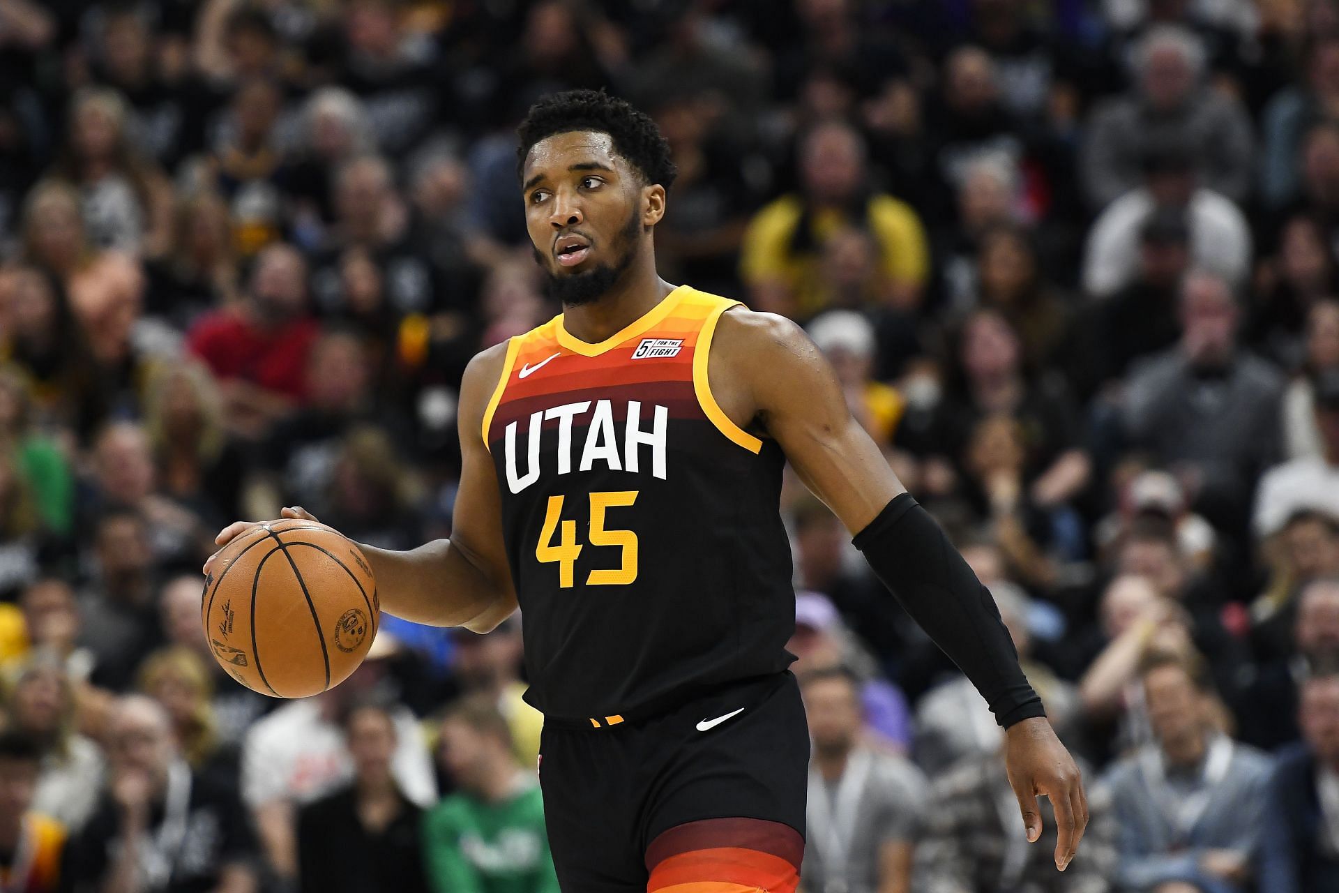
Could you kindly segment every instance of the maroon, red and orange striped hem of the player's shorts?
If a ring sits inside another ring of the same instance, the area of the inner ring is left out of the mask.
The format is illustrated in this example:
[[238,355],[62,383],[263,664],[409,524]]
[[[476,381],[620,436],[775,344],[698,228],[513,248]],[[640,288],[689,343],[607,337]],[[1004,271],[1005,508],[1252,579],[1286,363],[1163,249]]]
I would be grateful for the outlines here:
[[794,893],[803,838],[781,822],[716,818],[678,825],[647,847],[647,893]]

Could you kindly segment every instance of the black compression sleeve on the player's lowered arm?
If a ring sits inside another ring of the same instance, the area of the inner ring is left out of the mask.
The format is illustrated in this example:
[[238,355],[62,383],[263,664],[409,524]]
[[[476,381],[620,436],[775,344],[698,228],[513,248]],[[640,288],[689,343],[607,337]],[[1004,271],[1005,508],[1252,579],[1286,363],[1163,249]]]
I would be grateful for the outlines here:
[[1046,715],[995,598],[909,493],[884,506],[854,542],[912,620],[972,680],[995,722],[1008,728]]

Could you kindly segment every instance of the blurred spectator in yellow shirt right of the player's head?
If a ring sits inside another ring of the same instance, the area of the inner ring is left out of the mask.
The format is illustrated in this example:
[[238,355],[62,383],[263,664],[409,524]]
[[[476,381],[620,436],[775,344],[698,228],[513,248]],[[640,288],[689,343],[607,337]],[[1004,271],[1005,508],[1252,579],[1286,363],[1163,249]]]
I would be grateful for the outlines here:
[[755,309],[807,319],[825,309],[821,254],[848,228],[873,237],[877,297],[900,308],[920,303],[929,249],[909,205],[869,189],[865,143],[849,125],[818,125],[802,139],[799,193],[759,210],[744,233],[740,276]]

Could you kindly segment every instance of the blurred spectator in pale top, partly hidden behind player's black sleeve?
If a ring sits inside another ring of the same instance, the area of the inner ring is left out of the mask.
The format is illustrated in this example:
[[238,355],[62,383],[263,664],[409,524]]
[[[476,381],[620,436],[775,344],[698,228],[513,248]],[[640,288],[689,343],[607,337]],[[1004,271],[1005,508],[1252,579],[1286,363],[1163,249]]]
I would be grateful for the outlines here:
[[[1028,632],[1031,598],[1020,586],[1007,581],[991,584],[991,594],[1018,649],[1019,664],[1046,704],[1046,715],[1056,734],[1069,736],[1075,731],[1074,720],[1078,719],[1078,692],[1071,683],[1063,681],[1050,667],[1032,657]],[[961,673],[920,699],[915,728],[916,764],[931,778],[959,760],[998,752],[1004,740],[986,700]]]

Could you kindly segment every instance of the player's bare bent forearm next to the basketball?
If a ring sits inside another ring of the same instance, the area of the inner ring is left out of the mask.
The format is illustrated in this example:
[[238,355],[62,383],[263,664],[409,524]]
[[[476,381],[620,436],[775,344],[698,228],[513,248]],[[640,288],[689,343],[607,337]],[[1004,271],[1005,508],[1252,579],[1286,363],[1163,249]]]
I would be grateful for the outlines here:
[[450,540],[407,552],[360,548],[372,564],[382,609],[396,617],[485,632],[516,609],[510,578],[495,578],[498,574]]

